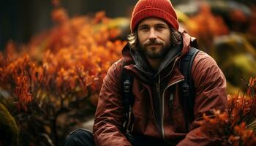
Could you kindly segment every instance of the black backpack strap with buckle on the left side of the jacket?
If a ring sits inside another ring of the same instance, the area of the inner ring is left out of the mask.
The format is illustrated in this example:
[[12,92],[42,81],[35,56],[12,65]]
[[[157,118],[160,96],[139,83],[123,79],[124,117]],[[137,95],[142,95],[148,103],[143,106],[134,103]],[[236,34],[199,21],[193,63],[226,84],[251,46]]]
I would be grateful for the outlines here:
[[124,104],[124,131],[127,130],[127,126],[132,120],[132,107],[134,104],[134,95],[132,94],[132,83],[133,76],[129,74],[127,69],[124,69],[124,66],[128,65],[127,62],[123,62],[122,71],[121,71],[121,83],[122,83],[122,95],[123,95],[123,104]]

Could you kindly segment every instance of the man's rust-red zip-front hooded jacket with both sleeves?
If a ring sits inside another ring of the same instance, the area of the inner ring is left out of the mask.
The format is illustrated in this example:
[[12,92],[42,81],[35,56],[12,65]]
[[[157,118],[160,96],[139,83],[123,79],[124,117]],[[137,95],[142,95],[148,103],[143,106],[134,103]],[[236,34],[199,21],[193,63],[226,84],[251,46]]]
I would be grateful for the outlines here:
[[[170,142],[170,145],[214,145],[217,139],[203,134],[200,131],[199,121],[203,113],[212,113],[214,109],[223,111],[227,107],[225,76],[209,55],[202,51],[196,55],[192,65],[192,77],[196,91],[195,120],[190,123],[189,132],[187,132],[178,88],[178,82],[183,81],[184,76],[179,71],[178,64],[195,41],[186,31],[181,30],[181,33],[183,35],[181,53],[175,55],[173,61],[167,64],[162,72],[159,72],[157,76],[159,79],[155,84],[154,79],[148,79],[135,64],[125,66],[125,69],[128,69],[134,76],[132,93],[135,96],[135,103],[132,107],[132,114],[135,118],[129,131],[132,134],[165,139]],[[123,58],[116,61],[108,70],[99,93],[93,130],[96,145],[131,145],[120,131],[125,120],[120,77],[124,60],[134,61],[128,45],[124,47]],[[159,93],[159,104],[156,106],[157,94],[154,93],[154,87],[158,85],[157,83],[160,84],[161,93]],[[173,97],[172,107],[170,96]],[[158,127],[157,113],[162,119]]]

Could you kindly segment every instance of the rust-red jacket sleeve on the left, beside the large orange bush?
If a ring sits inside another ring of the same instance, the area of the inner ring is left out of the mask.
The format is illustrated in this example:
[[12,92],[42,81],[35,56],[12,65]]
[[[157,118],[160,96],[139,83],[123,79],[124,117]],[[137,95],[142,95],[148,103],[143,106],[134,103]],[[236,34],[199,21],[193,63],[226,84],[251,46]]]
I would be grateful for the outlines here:
[[93,128],[94,141],[98,146],[131,146],[120,131],[124,122],[123,102],[118,83],[118,79],[121,79],[120,64],[118,61],[110,66],[99,93]]

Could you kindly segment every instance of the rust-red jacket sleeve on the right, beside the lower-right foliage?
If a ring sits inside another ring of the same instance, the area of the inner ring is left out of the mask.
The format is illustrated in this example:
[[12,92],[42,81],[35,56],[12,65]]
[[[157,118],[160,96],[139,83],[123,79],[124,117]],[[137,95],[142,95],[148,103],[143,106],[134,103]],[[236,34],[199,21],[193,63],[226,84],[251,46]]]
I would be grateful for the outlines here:
[[213,110],[225,111],[227,108],[226,80],[217,63],[206,53],[200,52],[192,66],[192,77],[195,82],[195,120],[190,125],[191,131],[185,139],[178,143],[181,145],[217,145],[217,137],[207,137],[201,131],[200,120],[203,113],[212,115]]

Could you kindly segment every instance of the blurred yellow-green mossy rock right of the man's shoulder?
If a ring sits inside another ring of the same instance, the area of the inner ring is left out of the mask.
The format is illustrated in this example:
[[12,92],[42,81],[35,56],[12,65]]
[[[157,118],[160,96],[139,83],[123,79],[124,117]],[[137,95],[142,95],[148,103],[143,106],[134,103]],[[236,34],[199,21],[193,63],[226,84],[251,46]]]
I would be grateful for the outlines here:
[[[256,77],[256,49],[238,33],[214,39],[213,57],[234,88],[246,90],[244,83]],[[236,91],[232,86],[228,91]],[[234,90],[233,90],[234,89]]]

